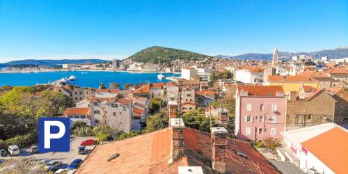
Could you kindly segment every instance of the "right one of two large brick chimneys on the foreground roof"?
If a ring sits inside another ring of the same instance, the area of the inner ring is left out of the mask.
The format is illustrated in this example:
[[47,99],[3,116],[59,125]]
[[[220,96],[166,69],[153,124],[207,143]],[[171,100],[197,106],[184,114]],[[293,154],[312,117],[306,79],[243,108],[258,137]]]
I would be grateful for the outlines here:
[[227,130],[212,127],[212,167],[218,173],[226,173]]

